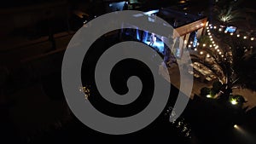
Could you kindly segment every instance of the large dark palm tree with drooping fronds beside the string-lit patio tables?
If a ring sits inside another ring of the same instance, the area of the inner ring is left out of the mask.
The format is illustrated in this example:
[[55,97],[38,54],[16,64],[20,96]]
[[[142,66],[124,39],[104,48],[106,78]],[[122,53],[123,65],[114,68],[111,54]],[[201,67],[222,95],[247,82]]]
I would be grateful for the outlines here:
[[[216,49],[203,47],[202,44],[198,47],[201,51],[212,57],[211,63],[201,57],[192,56],[192,61],[197,61],[207,66],[214,72],[218,79],[224,84],[221,89],[225,97],[228,97],[232,92],[231,89],[236,86],[256,90],[256,52],[253,52],[249,47],[247,40],[240,37],[230,37],[230,35],[221,33],[223,54],[218,55]],[[205,39],[205,38],[203,38]],[[201,40],[203,41],[203,40]],[[230,54],[230,55],[229,55]],[[213,66],[217,66],[218,70],[214,70]]]

